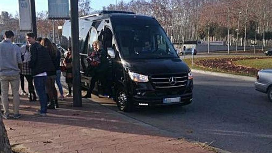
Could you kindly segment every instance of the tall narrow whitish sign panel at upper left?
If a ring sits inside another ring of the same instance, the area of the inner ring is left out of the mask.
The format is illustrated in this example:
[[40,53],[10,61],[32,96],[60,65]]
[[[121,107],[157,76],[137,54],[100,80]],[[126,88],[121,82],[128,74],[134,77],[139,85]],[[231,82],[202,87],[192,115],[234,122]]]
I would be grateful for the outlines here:
[[32,31],[29,0],[19,0],[19,16],[20,31]]

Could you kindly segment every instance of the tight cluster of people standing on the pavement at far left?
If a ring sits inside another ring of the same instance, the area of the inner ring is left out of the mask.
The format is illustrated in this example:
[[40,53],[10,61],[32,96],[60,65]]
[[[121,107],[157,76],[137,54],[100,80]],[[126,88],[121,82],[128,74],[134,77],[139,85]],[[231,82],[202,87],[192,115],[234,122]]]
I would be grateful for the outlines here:
[[[26,35],[27,45],[19,48],[12,44],[14,33],[6,31],[4,40],[0,42],[0,82],[2,91],[2,105],[4,108],[3,118],[10,118],[8,109],[8,91],[11,83],[13,94],[14,118],[19,118],[19,80],[21,79],[22,93],[24,77],[28,82],[29,101],[36,101],[37,95],[40,101],[40,111],[37,116],[46,116],[47,109],[58,108],[57,82],[60,99],[64,99],[63,89],[60,82],[61,53],[57,46],[48,38],[38,38],[33,32]],[[34,85],[33,85],[34,80]],[[48,105],[48,101],[50,104]]]

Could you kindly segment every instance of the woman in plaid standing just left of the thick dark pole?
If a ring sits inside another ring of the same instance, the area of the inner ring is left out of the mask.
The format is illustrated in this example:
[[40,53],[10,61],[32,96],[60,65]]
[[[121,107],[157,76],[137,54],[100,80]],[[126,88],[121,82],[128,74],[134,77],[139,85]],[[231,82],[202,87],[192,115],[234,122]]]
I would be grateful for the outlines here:
[[72,96],[72,84],[73,84],[73,69],[72,69],[72,47],[68,47],[68,53],[63,61],[63,64],[66,68],[66,77],[65,82],[68,84],[69,93],[66,94],[66,97]]

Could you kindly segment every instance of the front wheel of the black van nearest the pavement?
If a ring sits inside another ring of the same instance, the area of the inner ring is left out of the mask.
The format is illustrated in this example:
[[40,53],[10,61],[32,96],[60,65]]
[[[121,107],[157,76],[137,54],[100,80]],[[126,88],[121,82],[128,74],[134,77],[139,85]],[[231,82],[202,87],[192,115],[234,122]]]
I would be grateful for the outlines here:
[[133,106],[132,106],[131,100],[127,92],[123,88],[120,88],[117,91],[116,100],[117,100],[117,106],[119,110],[124,112],[132,111]]

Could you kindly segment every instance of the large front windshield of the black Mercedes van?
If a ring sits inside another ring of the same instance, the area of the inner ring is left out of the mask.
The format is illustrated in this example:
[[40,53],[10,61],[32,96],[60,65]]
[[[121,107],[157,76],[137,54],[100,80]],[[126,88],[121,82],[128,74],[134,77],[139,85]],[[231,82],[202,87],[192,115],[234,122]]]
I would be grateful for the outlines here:
[[117,43],[124,59],[178,58],[163,29],[155,20],[116,22]]

